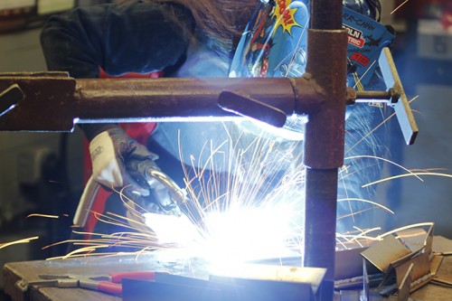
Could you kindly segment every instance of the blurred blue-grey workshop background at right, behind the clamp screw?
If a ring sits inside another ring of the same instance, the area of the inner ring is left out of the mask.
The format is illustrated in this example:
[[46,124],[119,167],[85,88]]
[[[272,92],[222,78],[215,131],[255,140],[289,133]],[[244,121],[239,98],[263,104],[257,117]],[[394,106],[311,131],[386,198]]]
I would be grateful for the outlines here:
[[[382,2],[391,13],[403,1]],[[388,9],[388,7],[391,7]],[[384,20],[398,29],[393,55],[414,109],[419,136],[404,146],[400,131],[391,132],[391,159],[414,171],[452,174],[452,15],[450,1],[410,2]],[[448,27],[448,29],[447,29]],[[387,166],[386,173],[404,174]],[[395,216],[375,215],[384,228],[434,221],[435,232],[452,238],[452,178],[440,175],[413,176],[382,183],[378,202],[389,205]]]

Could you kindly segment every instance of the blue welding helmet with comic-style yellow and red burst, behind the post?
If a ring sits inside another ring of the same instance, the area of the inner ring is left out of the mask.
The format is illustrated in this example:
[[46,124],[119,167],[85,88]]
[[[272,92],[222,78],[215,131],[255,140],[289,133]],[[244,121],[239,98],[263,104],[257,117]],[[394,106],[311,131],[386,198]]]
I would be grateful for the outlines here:
[[[373,62],[378,61],[381,49],[394,35],[375,21],[380,19],[380,0],[344,0],[343,4],[344,28],[349,32],[348,86],[384,89],[384,83],[374,74],[378,64]],[[308,25],[309,0],[260,1],[240,39],[229,76],[302,76],[307,63]],[[294,133],[303,132],[300,124],[297,117],[287,118],[279,132],[297,136]]]

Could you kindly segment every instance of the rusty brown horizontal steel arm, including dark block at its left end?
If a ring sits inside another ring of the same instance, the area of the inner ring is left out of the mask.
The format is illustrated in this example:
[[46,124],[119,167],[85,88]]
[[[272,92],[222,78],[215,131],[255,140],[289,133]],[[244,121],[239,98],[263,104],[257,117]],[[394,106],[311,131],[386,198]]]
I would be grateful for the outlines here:
[[324,101],[315,80],[307,76],[76,80],[61,72],[0,74],[0,90],[11,85],[23,90],[25,98],[20,106],[1,116],[0,130],[71,131],[74,123],[224,120],[240,116],[281,126],[285,115],[310,114]]

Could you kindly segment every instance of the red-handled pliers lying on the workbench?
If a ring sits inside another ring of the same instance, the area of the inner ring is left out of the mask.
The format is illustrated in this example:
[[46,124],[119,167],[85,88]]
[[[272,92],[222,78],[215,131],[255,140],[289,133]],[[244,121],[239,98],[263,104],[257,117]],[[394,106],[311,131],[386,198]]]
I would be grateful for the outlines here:
[[122,279],[155,280],[155,272],[123,271],[99,276],[83,276],[75,274],[40,275],[42,281],[32,281],[29,285],[40,287],[81,287],[111,295],[122,294]]

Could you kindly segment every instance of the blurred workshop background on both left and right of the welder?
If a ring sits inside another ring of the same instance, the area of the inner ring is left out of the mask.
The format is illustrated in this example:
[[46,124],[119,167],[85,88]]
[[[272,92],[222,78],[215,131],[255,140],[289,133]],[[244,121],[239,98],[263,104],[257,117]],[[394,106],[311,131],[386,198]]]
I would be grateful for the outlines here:
[[[39,44],[43,20],[75,6],[113,1],[0,1],[0,72],[45,71]],[[452,5],[450,0],[382,0],[382,24],[397,31],[393,54],[419,126],[414,146],[405,146],[400,130],[391,129],[391,159],[409,169],[452,174]],[[43,246],[66,239],[71,214],[82,191],[82,135],[0,132],[0,243],[39,235],[40,240],[0,249],[5,262],[45,259],[64,252]],[[384,174],[402,174],[385,165]],[[404,177],[381,183],[377,202],[392,216],[376,210],[383,230],[434,221],[436,234],[452,239],[452,178]],[[56,214],[60,219],[26,218],[30,213]],[[68,214],[68,216],[65,216]],[[0,279],[0,288],[2,282]],[[0,296],[1,299],[2,296]]]

